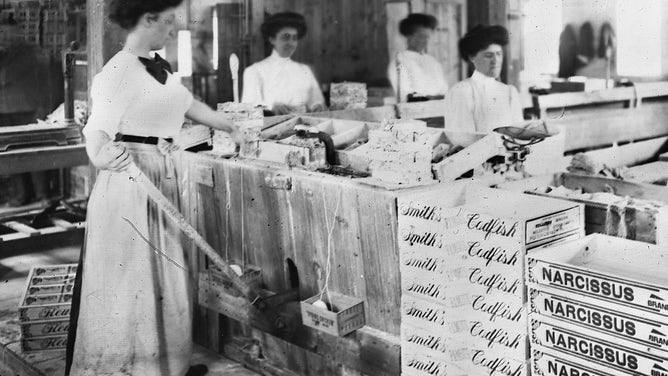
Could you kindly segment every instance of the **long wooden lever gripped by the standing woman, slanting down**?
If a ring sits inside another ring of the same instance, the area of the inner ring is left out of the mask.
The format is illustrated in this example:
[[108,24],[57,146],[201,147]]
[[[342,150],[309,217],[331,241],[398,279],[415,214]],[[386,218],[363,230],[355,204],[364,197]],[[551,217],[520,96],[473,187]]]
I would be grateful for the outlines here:
[[174,204],[165,197],[160,190],[153,185],[146,175],[135,165],[134,163],[130,164],[130,167],[126,170],[130,179],[137,183],[146,194],[158,205],[158,207],[169,217],[174,223],[178,226],[181,231],[192,241],[195,242],[195,245],[206,254],[211,261],[220,267],[223,274],[230,279],[234,287],[238,288],[239,291],[246,297],[250,302],[255,302],[258,298],[257,291],[252,287],[247,285],[237,273],[230,268],[230,266],[223,260],[222,257],[209,245],[209,243],[200,235],[197,230],[195,230],[186,218],[179,212],[179,210],[174,206]]

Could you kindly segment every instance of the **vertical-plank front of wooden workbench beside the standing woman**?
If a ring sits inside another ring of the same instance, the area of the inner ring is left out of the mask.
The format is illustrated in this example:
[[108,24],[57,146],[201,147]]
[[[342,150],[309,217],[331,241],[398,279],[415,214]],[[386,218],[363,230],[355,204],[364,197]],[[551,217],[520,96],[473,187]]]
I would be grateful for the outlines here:
[[[338,375],[341,367],[399,374],[400,190],[253,160],[187,152],[177,159],[181,210],[224,258],[259,266],[268,290],[296,288],[305,300],[324,286],[329,254],[329,289],[365,301],[366,326],[346,337],[301,325],[297,301],[264,330],[251,329],[253,322],[236,328],[200,308],[195,337],[249,366],[259,360],[240,352],[234,336],[257,341],[264,362],[297,374]],[[206,263],[199,258],[192,266],[203,270]]]

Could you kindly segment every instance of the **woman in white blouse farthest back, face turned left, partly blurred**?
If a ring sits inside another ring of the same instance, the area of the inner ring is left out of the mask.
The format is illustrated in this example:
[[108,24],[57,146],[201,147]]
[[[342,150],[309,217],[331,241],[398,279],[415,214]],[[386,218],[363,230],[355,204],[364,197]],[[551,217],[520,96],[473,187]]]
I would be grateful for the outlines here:
[[440,99],[448,90],[443,66],[427,54],[437,25],[434,16],[422,13],[411,13],[399,23],[407,49],[391,57],[387,77],[400,102]]

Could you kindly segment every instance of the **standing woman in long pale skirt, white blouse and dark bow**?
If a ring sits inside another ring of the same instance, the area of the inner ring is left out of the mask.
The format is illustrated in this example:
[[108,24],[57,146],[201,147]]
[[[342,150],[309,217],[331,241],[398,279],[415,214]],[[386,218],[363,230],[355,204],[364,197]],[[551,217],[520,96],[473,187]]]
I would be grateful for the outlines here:
[[83,133],[100,171],[88,202],[86,239],[68,337],[71,376],[204,374],[190,368],[189,256],[178,228],[122,173],[131,161],[177,206],[169,139],[184,117],[239,132],[149,52],[174,36],[182,0],[112,0],[110,19],[128,30],[123,50],[93,80]]

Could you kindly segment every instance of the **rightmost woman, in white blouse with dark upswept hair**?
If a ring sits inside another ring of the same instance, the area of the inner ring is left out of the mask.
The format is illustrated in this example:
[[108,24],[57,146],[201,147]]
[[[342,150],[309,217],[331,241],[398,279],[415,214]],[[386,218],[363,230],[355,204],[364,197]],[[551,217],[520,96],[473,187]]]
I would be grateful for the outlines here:
[[446,94],[446,129],[489,133],[523,120],[517,89],[499,81],[506,44],[508,31],[498,25],[476,26],[459,41],[462,58],[475,71]]

